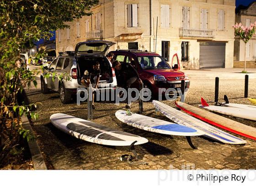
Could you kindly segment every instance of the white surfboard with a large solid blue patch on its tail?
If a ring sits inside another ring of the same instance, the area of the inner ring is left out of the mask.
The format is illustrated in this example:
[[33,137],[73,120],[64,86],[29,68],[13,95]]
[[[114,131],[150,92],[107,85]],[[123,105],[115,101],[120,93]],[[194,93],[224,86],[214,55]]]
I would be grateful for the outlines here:
[[179,135],[179,136],[198,136],[203,135],[203,132],[199,132],[195,129],[164,121],[161,119],[151,118],[140,114],[127,115],[126,111],[118,110],[116,117],[123,123],[131,125],[138,129],[147,130],[150,132],[165,134],[165,135]]

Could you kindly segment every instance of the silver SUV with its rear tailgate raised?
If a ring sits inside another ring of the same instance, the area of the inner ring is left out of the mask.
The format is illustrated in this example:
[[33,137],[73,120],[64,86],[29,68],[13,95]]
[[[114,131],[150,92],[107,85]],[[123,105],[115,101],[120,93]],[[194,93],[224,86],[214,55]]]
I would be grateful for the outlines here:
[[[63,104],[70,103],[72,96],[77,94],[77,88],[85,88],[81,84],[81,78],[86,69],[92,67],[95,61],[100,62],[100,82],[98,89],[115,89],[117,87],[117,79],[115,71],[112,69],[111,62],[107,59],[107,51],[109,47],[114,45],[109,41],[87,41],[80,42],[75,47],[75,52],[66,52],[56,57],[47,68],[45,73],[49,73],[48,78],[44,78],[41,74],[41,90],[43,94],[47,94],[49,90],[59,92],[60,101]],[[68,73],[70,80],[59,81],[58,78],[53,79],[53,73]]]

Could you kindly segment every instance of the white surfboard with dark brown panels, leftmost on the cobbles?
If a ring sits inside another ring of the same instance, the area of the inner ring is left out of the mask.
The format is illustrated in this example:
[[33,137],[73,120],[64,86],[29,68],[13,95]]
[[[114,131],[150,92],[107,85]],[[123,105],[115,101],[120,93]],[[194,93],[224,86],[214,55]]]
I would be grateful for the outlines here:
[[129,146],[147,143],[146,138],[120,130],[112,129],[100,124],[76,118],[67,114],[53,114],[50,117],[52,124],[59,130],[75,136],[78,139],[102,145]]

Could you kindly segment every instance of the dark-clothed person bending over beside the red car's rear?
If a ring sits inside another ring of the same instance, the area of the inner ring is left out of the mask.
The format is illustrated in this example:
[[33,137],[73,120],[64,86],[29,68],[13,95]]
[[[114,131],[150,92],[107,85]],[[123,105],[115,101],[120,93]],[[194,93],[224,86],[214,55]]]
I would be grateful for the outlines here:
[[[127,94],[128,88],[130,88],[131,84],[134,83],[136,80],[139,82],[139,84],[142,84],[138,72],[136,71],[136,69],[133,68],[130,63],[121,63],[119,61],[114,61],[112,63],[112,68],[114,68],[118,72],[118,82],[122,83],[122,87],[126,89]],[[119,96],[122,96],[122,94],[123,93],[120,93]],[[128,98],[126,108],[131,108],[131,103],[129,103]]]

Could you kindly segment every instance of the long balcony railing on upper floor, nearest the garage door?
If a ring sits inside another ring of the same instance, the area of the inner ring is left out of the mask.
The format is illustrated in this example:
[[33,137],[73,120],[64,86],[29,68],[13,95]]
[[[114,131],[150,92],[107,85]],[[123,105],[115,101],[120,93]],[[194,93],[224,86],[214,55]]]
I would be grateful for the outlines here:
[[211,29],[186,29],[180,28],[180,37],[205,37],[214,38],[215,31]]

